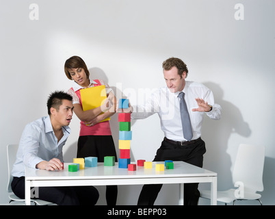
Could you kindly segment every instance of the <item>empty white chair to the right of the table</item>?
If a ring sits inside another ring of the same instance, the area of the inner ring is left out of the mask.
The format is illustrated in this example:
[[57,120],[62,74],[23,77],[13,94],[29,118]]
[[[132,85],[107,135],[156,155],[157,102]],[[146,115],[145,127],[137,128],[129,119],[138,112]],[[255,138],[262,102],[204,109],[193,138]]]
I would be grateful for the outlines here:
[[[263,191],[263,166],[265,162],[265,148],[251,144],[240,144],[233,168],[233,183],[237,188],[217,192],[217,201],[232,203],[237,200],[257,200],[261,203]],[[201,198],[210,199],[210,191],[200,191]]]

